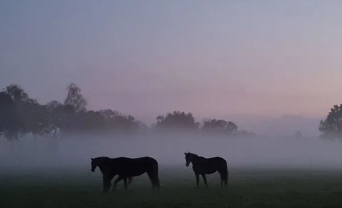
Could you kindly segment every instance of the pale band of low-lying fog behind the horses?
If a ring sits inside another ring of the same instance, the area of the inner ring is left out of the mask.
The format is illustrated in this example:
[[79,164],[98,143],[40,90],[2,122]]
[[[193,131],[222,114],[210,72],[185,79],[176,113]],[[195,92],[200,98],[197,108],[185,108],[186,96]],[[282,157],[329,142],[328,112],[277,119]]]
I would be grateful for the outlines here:
[[3,170],[30,167],[90,166],[90,158],[154,157],[159,165],[185,165],[184,152],[221,156],[229,167],[342,167],[342,142],[318,137],[224,137],[187,133],[75,135],[53,140],[26,136],[13,145],[1,140]]

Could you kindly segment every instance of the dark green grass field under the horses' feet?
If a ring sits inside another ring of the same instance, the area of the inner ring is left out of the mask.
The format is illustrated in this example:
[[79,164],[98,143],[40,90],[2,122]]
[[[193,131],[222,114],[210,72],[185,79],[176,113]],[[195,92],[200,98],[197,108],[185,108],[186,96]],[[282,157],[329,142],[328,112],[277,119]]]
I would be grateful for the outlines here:
[[231,168],[229,186],[218,174],[195,188],[192,169],[160,167],[161,189],[146,175],[124,191],[103,194],[101,175],[90,167],[0,173],[0,207],[342,207],[342,170]]

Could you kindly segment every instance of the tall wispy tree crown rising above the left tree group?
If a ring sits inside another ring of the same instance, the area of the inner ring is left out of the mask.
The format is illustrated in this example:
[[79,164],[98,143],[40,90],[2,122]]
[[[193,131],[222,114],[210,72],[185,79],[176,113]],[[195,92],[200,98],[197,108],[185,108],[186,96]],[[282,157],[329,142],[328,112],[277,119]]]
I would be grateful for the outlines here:
[[66,90],[68,91],[68,95],[64,101],[65,106],[72,106],[75,112],[86,111],[87,100],[83,98],[81,94],[81,89],[76,86],[76,84],[71,83]]

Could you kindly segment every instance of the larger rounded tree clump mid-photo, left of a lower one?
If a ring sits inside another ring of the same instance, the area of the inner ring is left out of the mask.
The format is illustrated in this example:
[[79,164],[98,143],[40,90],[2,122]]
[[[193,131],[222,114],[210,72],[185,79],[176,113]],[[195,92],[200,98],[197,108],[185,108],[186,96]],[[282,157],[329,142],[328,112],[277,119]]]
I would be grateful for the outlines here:
[[158,128],[188,128],[197,129],[199,122],[195,121],[192,113],[174,111],[167,113],[166,116],[159,115],[156,117]]

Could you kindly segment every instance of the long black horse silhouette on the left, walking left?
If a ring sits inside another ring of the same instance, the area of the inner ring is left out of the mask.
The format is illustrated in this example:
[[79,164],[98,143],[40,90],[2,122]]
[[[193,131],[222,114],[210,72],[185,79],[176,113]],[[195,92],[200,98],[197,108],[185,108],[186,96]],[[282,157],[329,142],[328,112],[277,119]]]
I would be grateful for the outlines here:
[[152,187],[159,188],[158,178],[158,162],[152,157],[96,157],[92,158],[92,171],[99,167],[103,175],[103,190],[108,191],[111,186],[111,180],[115,175],[119,177],[114,181],[113,189],[120,180],[124,180],[125,190],[128,183],[132,181],[134,176],[147,173],[152,182]]

